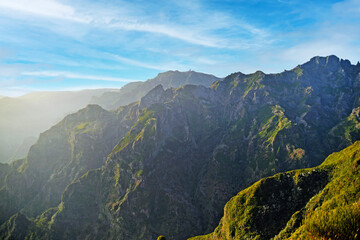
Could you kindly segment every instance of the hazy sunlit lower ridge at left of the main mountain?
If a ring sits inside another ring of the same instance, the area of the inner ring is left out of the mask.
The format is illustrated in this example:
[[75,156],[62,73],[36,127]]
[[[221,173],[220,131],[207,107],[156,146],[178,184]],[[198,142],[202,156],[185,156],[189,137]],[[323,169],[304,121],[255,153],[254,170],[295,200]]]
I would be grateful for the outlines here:
[[0,181],[0,219],[20,210],[36,216],[57,206],[67,185],[105,163],[133,124],[131,117],[126,107],[108,112],[89,105],[42,133],[25,159],[0,174],[6,176]]

